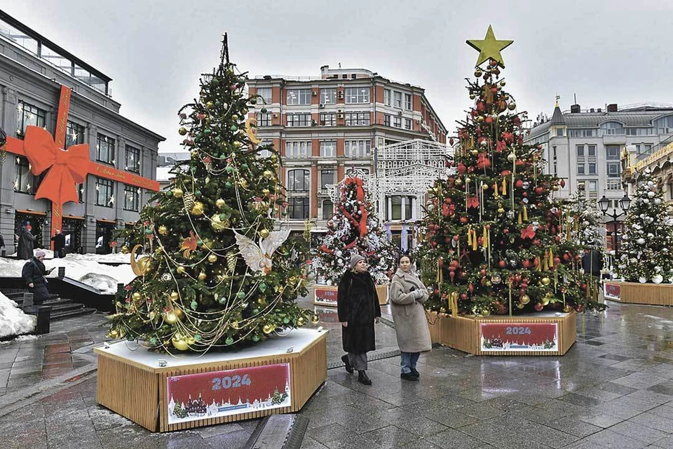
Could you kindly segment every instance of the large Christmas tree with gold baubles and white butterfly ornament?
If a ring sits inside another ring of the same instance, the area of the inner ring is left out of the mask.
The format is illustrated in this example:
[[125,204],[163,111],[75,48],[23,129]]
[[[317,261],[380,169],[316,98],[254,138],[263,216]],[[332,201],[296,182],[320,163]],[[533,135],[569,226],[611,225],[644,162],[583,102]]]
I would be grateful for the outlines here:
[[122,234],[138,276],[118,296],[111,336],[208,351],[316,319],[295,303],[306,293],[304,254],[287,240],[289,230],[273,230],[287,205],[280,159],[246,119],[257,98],[245,81],[229,62],[225,36],[219,65],[179,111],[191,160],[175,167],[169,188]]

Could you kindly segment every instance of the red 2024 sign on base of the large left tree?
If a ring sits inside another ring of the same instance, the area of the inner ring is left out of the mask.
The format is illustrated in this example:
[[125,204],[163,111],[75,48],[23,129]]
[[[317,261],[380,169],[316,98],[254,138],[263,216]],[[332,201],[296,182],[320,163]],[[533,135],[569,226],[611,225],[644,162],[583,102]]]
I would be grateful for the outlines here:
[[290,364],[168,377],[168,424],[292,405]]

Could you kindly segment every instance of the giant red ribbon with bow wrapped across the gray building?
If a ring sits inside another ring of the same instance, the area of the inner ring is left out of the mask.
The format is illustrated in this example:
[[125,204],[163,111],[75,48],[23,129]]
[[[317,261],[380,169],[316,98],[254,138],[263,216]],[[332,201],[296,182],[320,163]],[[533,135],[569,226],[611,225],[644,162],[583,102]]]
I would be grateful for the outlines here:
[[159,189],[156,181],[90,161],[88,144],[72,145],[64,149],[71,95],[70,88],[61,86],[53,138],[43,128],[27,126],[24,140],[8,137],[4,148],[12,154],[26,156],[34,175],[46,173],[35,199],[46,198],[52,201],[50,235],[54,235],[56,229],[61,229],[63,204],[78,201],[77,184],[84,182],[87,174],[154,192]]

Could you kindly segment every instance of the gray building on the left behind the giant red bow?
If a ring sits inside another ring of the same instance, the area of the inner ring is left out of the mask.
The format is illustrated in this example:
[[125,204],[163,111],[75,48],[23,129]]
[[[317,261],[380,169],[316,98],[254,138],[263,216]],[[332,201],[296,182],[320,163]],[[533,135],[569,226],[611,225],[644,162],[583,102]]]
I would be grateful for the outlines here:
[[[55,132],[61,86],[72,88],[65,147],[87,143],[89,159],[122,173],[156,179],[158,143],[165,140],[119,114],[111,79],[0,11],[0,127],[22,139],[28,125]],[[6,152],[0,166],[0,232],[8,254],[20,224],[31,222],[36,246],[49,247],[52,203],[34,199],[44,173],[34,176],[24,156]],[[137,179],[137,178],[135,178]],[[135,222],[153,192],[88,174],[79,202],[65,203],[62,230],[69,252],[105,253],[111,232]]]

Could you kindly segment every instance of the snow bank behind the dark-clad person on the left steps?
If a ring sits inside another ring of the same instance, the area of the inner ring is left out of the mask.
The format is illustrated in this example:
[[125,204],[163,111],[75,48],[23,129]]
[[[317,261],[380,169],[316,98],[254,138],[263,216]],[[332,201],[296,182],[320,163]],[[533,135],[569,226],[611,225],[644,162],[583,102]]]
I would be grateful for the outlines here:
[[[135,278],[130,265],[128,254],[68,254],[62,259],[52,259],[53,252],[44,250],[46,259],[44,266],[47,269],[55,267],[49,277],[58,275],[58,267],[65,267],[65,276],[86,283],[101,290],[104,294],[114,294],[117,291],[117,283],[129,283]],[[98,262],[127,262],[118,267],[100,264]],[[1,277],[21,277],[21,269],[25,260],[14,260],[0,257]]]

